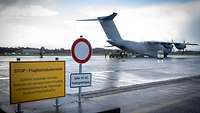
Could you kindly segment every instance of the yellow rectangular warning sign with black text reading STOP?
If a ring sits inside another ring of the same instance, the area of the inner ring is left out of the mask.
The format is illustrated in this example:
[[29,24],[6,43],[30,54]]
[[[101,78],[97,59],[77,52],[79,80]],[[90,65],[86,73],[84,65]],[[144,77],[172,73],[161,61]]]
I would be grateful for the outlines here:
[[10,62],[10,103],[65,96],[65,61]]

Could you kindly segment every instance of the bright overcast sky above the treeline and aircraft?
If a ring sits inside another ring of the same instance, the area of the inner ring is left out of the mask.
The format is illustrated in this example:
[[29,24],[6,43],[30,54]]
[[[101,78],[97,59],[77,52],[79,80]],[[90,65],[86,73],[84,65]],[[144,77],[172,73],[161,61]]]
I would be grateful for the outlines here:
[[113,12],[123,39],[200,44],[199,6],[200,0],[0,0],[0,46],[71,48],[83,35],[104,47],[99,22],[76,20]]

